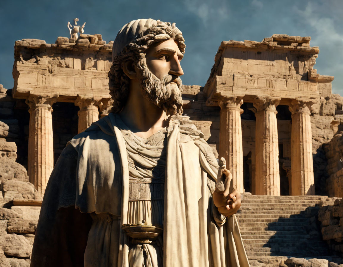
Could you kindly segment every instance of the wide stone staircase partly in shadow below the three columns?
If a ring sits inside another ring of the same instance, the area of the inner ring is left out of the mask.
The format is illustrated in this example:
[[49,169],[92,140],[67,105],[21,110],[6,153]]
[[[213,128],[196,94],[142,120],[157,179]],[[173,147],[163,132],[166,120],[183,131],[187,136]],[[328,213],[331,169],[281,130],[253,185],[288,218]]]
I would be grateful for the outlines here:
[[331,256],[316,221],[326,198],[244,194],[237,220],[249,260]]

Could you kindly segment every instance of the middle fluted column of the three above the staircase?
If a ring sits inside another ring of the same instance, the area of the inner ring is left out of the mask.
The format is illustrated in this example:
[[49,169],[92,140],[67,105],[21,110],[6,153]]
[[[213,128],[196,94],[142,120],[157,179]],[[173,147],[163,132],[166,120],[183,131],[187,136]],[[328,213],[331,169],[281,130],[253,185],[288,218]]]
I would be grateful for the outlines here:
[[276,106],[280,98],[256,97],[255,194],[280,196],[279,140]]

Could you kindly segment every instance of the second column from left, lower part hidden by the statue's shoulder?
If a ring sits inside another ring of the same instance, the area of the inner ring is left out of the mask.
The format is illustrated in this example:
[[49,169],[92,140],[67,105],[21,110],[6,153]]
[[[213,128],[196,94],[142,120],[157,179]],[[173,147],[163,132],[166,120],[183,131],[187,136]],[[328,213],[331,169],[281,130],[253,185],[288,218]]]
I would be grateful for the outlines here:
[[76,98],[75,106],[80,108],[78,112],[79,133],[90,127],[94,121],[99,120],[99,104],[100,101],[96,100],[94,97],[78,96]]

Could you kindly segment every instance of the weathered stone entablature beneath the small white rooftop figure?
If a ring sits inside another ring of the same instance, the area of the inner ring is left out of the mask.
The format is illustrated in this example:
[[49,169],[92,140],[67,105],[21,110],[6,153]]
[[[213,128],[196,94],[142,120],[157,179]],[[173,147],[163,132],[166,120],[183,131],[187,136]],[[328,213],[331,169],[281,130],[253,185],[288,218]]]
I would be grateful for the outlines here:
[[106,44],[100,34],[81,34],[76,43],[58,37],[56,44],[44,40],[15,42],[13,97],[29,94],[59,94],[58,102],[74,102],[79,94],[110,99],[108,71],[113,42]]

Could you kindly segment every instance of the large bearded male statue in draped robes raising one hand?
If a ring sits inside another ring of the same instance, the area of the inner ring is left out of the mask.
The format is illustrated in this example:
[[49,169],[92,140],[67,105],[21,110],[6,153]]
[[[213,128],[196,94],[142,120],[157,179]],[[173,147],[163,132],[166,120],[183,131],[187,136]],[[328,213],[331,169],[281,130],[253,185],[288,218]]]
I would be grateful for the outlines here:
[[[50,176],[31,266],[247,267],[240,194],[182,114],[175,23],[131,21],[108,74],[112,112],[68,142]],[[219,177],[221,177],[219,175]]]

